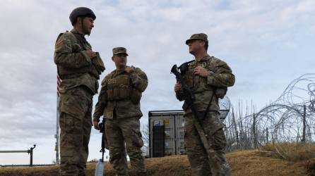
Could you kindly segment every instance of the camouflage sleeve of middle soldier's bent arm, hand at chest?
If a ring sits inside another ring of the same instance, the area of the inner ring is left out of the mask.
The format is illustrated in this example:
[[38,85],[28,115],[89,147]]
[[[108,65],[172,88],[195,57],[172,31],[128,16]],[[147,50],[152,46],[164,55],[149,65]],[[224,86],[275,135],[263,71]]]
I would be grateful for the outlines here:
[[131,82],[133,87],[136,88],[139,92],[144,92],[148,87],[148,77],[145,73],[140,70],[140,68],[136,68],[131,74]]

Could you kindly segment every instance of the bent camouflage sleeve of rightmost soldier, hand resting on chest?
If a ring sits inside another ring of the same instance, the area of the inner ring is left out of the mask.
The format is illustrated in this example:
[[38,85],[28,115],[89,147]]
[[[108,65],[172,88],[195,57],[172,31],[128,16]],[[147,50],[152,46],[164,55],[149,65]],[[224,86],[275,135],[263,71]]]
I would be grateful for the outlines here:
[[215,70],[210,71],[207,76],[207,83],[215,87],[231,87],[234,85],[235,77],[231,68],[223,61],[215,63]]

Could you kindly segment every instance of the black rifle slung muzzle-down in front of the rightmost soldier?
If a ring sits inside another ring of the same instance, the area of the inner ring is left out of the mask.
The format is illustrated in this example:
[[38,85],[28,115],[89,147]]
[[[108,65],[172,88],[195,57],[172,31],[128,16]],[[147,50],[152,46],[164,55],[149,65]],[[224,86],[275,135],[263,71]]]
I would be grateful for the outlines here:
[[[173,73],[176,76],[177,82],[182,84],[182,91],[184,93],[184,100],[188,104],[189,108],[191,108],[191,111],[194,113],[194,120],[195,120],[194,126],[196,127],[196,130],[199,134],[199,137],[201,139],[203,147],[207,152],[210,165],[212,165],[215,168],[222,170],[222,167],[220,166],[220,158],[218,158],[215,151],[210,148],[210,146],[211,146],[210,140],[208,141],[207,134],[205,134],[203,127],[201,126],[201,119],[204,118],[204,115],[206,115],[207,112],[205,112],[205,114],[201,114],[201,113],[199,113],[199,111],[197,111],[196,105],[194,104],[194,101],[195,101],[194,93],[191,92],[191,89],[189,89],[189,87],[184,83],[182,75],[184,75],[186,68],[183,69],[182,66],[185,67],[185,65],[181,65],[181,66],[179,66],[179,68],[177,68],[176,64],[173,65],[173,67],[171,69],[171,73]],[[181,71],[181,73],[179,73],[179,70]],[[211,97],[210,103],[211,103],[212,99],[213,99],[213,96]],[[209,103],[209,106],[210,106],[210,103]],[[217,161],[217,162],[215,162],[215,161]],[[214,174],[214,172],[213,172],[213,174]]]

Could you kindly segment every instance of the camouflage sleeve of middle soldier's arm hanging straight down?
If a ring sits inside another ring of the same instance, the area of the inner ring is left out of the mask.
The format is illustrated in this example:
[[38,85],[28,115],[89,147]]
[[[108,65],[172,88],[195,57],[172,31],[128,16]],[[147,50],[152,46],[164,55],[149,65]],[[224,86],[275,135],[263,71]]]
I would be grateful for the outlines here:
[[105,106],[107,105],[107,83],[106,77],[102,81],[102,88],[100,90],[100,94],[98,96],[98,101],[95,105],[95,111],[93,114],[93,120],[100,120],[100,116],[103,115]]

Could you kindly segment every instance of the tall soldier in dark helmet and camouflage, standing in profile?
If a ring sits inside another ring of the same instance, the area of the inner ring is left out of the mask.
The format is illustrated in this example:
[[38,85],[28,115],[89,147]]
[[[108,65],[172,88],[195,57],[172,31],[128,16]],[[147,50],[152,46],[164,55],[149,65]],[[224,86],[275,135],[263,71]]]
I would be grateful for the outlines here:
[[60,85],[61,175],[85,175],[92,127],[93,95],[105,66],[85,39],[94,27],[95,14],[89,8],[75,8],[70,15],[71,32],[59,34],[55,45]]

